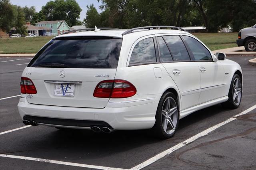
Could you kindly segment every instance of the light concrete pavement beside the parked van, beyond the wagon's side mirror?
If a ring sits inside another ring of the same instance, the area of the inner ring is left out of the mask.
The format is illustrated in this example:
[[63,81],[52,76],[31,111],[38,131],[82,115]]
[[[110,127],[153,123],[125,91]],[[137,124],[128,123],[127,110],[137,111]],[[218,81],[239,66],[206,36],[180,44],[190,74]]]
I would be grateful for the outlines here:
[[256,51],[255,52],[247,52],[244,49],[244,46],[242,47],[232,47],[232,48],[226,48],[226,49],[217,49],[212,51],[214,54],[216,52],[221,52],[225,53],[227,56],[231,55],[250,55],[250,56],[256,56]]

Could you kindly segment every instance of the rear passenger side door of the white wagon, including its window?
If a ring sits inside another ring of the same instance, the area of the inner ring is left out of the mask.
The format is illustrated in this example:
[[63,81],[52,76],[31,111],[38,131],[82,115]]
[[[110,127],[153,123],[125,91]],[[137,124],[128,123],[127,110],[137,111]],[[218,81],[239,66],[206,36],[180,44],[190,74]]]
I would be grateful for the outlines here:
[[180,35],[157,37],[162,65],[176,83],[181,95],[181,110],[198,104],[200,72],[197,63],[190,59]]

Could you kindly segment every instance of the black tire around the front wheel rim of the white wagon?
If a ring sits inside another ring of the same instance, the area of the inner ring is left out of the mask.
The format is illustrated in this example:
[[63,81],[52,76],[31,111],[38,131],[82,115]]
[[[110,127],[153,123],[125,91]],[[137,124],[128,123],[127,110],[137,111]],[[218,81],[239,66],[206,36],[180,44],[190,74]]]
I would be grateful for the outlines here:
[[[241,84],[241,97],[240,97],[239,103],[235,103],[235,101],[233,99],[233,91],[234,91],[233,85],[234,85],[234,81],[236,79],[239,79],[240,84]],[[230,88],[229,88],[229,92],[228,92],[228,101],[221,103],[221,105],[227,109],[237,109],[240,106],[241,101],[242,101],[242,81],[241,81],[241,77],[238,74],[235,74],[233,76],[231,84],[230,84]]]

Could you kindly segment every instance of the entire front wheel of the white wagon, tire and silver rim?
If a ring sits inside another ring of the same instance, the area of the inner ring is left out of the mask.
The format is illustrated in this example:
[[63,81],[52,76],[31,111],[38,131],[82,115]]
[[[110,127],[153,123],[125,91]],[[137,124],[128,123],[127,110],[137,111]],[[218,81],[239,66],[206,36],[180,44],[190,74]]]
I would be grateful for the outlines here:
[[222,103],[223,107],[236,109],[239,107],[242,99],[242,81],[238,74],[235,74],[232,78],[229,92],[228,101]]

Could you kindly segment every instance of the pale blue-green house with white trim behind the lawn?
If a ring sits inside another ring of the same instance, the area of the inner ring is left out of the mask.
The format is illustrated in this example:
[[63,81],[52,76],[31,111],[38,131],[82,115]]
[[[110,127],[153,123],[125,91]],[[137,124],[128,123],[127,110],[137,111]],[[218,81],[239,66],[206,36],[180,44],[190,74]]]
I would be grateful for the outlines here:
[[58,36],[71,30],[64,20],[40,21],[35,25],[38,27],[38,36]]

